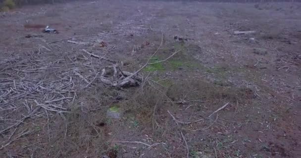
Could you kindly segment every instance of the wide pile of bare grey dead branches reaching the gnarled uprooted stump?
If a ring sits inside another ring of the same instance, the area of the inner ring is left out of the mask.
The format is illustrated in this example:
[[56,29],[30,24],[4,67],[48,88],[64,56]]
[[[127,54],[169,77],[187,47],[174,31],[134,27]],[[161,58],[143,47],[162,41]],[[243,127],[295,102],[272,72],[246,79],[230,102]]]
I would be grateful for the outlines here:
[[[76,102],[78,94],[92,85],[122,88],[141,85],[140,72],[154,64],[150,61],[162,46],[162,38],[157,50],[135,72],[122,71],[121,61],[104,57],[105,54],[101,57],[87,49],[65,53],[60,49],[54,51],[56,47],[48,45],[45,52],[39,49],[21,57],[7,55],[0,63],[0,136],[3,138],[0,150],[36,132],[26,125],[29,121],[39,122],[40,118],[47,120],[43,124],[48,126],[50,139],[50,119],[56,114],[65,119],[66,113],[72,113],[70,105]],[[168,60],[177,52],[158,62]]]

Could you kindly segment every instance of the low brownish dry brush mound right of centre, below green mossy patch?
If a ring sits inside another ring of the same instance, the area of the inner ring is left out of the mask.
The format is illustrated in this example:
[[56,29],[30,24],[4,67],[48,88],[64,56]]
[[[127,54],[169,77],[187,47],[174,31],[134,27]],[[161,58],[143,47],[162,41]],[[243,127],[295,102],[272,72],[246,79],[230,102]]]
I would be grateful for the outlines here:
[[214,86],[202,80],[179,81],[167,90],[167,96],[174,102],[187,103],[194,101],[245,102],[252,99],[252,90],[249,88],[236,88]]

